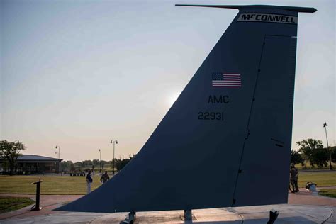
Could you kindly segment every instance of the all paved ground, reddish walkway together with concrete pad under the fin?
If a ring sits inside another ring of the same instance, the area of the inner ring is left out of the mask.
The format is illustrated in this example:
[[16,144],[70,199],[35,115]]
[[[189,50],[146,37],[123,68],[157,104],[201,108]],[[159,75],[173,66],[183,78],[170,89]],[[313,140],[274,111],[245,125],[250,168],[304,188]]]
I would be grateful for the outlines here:
[[[333,187],[333,188],[336,188]],[[0,194],[0,196],[27,196],[29,194]],[[62,203],[74,201],[82,195],[42,195],[41,211],[30,211],[31,206],[0,214],[0,223],[118,223],[127,213],[69,213],[52,211]],[[276,223],[336,223],[336,198],[319,196],[317,192],[300,189],[289,193],[289,205],[249,206],[194,210],[194,223],[266,223],[269,210],[280,212]],[[182,211],[137,213],[136,223],[184,223]]]

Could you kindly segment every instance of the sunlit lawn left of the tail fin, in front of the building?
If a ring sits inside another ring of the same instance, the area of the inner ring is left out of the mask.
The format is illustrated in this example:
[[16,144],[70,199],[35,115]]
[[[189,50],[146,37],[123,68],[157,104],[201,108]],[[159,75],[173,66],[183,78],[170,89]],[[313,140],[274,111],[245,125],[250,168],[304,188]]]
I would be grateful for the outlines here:
[[[86,177],[43,176],[41,194],[86,194]],[[101,186],[94,176],[91,190]],[[38,176],[0,176],[0,194],[35,194]]]

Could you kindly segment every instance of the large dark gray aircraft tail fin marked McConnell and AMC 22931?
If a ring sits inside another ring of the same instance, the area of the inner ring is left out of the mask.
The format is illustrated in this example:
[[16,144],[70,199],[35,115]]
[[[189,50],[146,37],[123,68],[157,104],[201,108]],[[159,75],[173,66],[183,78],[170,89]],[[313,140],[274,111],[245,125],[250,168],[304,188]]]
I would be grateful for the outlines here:
[[[57,210],[190,210],[287,202],[293,18],[315,9],[235,9],[239,13],[138,155],[99,189]],[[223,74],[228,74],[225,79]]]

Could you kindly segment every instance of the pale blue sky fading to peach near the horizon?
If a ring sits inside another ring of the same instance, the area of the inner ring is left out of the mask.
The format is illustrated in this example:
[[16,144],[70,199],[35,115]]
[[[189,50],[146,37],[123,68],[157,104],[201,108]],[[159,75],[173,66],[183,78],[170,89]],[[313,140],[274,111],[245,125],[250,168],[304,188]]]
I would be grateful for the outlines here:
[[[73,162],[137,153],[237,14],[174,4],[0,1],[0,140]],[[335,138],[335,1],[253,1],[299,13],[293,149]]]

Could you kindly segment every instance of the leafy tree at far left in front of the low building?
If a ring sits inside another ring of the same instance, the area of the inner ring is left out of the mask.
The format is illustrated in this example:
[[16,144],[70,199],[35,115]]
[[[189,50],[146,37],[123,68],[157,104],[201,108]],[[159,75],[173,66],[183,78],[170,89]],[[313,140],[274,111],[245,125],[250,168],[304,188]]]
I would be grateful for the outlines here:
[[13,175],[16,159],[21,155],[20,151],[26,150],[25,145],[21,142],[0,141],[0,157],[9,164],[9,174]]

